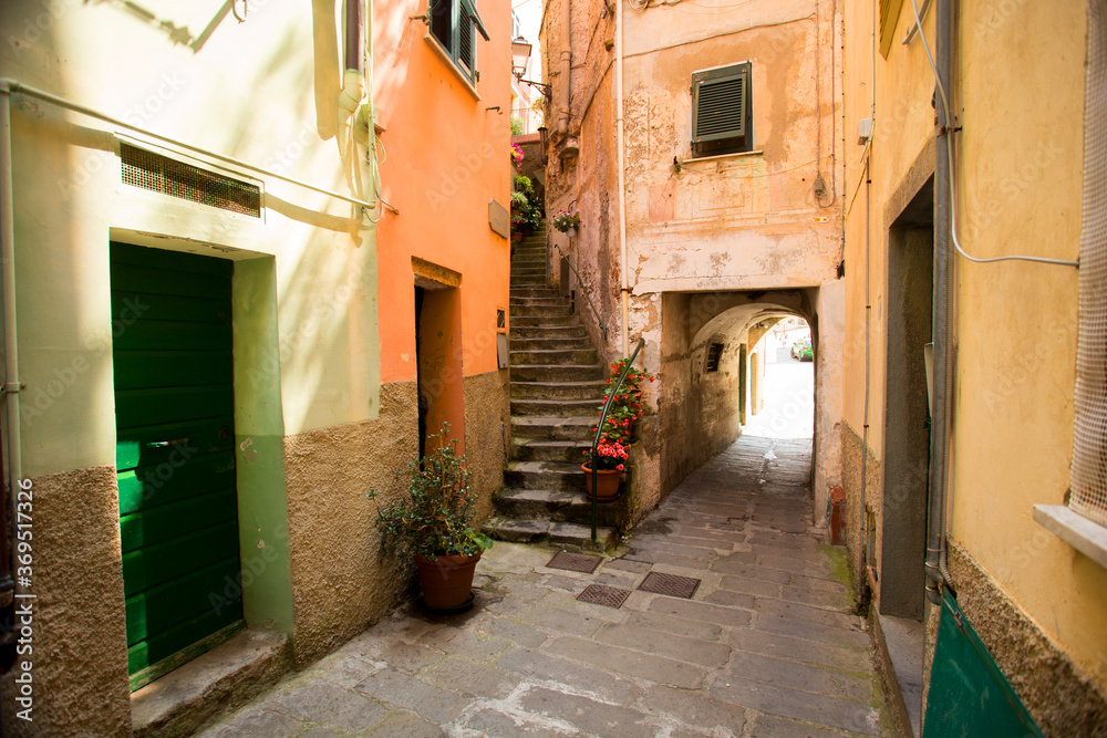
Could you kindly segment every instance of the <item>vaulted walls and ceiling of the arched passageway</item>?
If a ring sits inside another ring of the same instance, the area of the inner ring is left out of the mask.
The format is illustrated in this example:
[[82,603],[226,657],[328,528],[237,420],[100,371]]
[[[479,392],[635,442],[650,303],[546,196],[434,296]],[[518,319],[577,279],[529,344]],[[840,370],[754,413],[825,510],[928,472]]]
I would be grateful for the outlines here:
[[749,350],[786,316],[804,319],[815,350],[813,519],[839,484],[841,321],[819,288],[662,295],[662,489],[668,492],[741,435],[748,419]]

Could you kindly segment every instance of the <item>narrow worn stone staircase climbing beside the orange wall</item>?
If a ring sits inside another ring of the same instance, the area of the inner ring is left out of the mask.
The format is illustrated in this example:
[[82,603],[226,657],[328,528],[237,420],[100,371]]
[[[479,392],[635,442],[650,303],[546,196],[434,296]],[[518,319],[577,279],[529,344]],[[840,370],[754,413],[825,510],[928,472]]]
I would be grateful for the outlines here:
[[[546,287],[545,227],[511,254],[511,453],[486,532],[505,541],[591,548],[580,465],[607,371],[567,298]],[[618,539],[620,501],[598,506],[597,545]]]

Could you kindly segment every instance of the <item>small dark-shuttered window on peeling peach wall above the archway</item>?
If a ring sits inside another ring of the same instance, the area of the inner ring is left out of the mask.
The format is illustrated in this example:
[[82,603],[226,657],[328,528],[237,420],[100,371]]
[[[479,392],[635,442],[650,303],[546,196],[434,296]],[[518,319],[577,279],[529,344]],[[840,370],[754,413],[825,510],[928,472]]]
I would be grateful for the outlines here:
[[714,156],[753,149],[751,63],[692,75],[692,154]]

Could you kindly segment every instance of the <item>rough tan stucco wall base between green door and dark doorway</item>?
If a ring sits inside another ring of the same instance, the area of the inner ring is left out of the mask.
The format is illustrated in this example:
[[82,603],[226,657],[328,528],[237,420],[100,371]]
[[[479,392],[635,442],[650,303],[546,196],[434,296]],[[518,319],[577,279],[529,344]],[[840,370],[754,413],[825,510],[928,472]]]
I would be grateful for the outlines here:
[[393,469],[418,455],[415,383],[385,384],[381,399],[376,420],[284,439],[298,666],[360,633],[403,589],[396,562],[379,553],[377,503],[365,495],[375,489],[384,503],[405,487]]

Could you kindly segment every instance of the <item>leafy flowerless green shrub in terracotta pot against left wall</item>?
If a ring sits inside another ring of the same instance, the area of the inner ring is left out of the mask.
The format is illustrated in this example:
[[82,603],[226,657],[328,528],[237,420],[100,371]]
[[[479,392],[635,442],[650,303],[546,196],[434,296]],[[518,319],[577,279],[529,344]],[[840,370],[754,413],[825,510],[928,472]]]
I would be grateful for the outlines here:
[[[427,437],[427,447],[434,450],[407,462],[407,488],[376,513],[381,552],[415,563],[423,600],[439,612],[472,604],[477,561],[492,547],[492,539],[473,529],[476,496],[465,456],[457,455],[457,441],[446,441],[448,430],[443,423],[437,434]],[[396,479],[404,472],[396,469]],[[370,499],[376,497],[376,490],[370,491]]]

